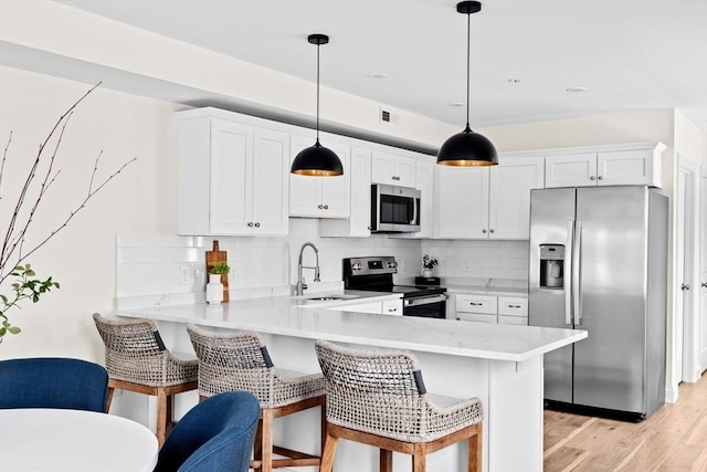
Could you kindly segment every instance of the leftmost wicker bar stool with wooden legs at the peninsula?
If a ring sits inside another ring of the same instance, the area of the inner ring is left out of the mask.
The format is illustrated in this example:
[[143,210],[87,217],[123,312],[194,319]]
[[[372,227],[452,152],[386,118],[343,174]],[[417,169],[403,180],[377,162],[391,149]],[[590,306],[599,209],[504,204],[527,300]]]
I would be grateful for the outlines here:
[[152,321],[108,319],[98,313],[93,319],[106,346],[106,411],[116,388],[157,397],[156,436],[161,448],[173,426],[175,395],[197,389],[198,360],[172,356]]

